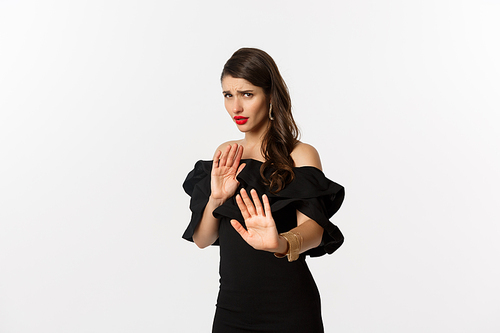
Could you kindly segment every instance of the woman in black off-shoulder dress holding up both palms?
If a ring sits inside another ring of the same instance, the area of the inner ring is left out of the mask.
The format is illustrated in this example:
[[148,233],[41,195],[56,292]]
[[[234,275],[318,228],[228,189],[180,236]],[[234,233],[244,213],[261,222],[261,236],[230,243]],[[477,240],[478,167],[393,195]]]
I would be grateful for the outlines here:
[[328,219],[344,189],[324,176],[317,151],[298,141],[288,89],[267,53],[236,51],[221,83],[245,136],[196,163],[183,185],[193,212],[183,237],[200,248],[220,245],[213,332],[323,332],[305,257],[342,244]]

